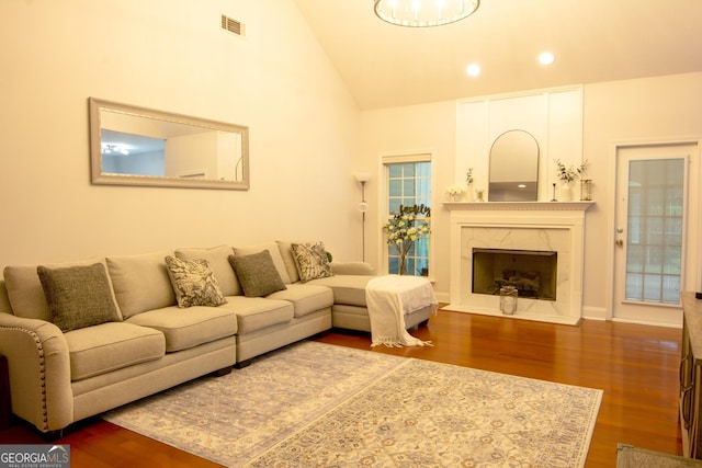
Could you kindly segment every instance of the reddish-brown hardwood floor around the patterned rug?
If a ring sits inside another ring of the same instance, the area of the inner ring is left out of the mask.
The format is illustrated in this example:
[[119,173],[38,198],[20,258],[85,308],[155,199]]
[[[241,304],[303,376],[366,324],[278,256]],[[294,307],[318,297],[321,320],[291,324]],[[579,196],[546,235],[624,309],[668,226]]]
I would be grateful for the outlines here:
[[[570,327],[440,311],[412,334],[434,346],[371,349],[370,335],[337,330],[317,341],[603,389],[587,467],[614,467],[619,442],[681,454],[680,330],[593,320]],[[0,443],[42,441],[15,425],[0,432]],[[59,443],[70,444],[75,468],[218,466],[99,419],[81,423]]]

